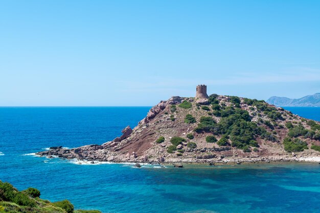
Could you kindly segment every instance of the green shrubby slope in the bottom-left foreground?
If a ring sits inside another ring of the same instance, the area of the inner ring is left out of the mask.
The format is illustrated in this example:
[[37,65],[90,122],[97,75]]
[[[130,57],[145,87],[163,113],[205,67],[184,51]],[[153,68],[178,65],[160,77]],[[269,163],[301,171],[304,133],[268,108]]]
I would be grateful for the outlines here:
[[0,212],[10,213],[101,213],[98,210],[74,210],[68,201],[50,202],[40,199],[40,191],[28,188],[19,192],[10,183],[0,180]]

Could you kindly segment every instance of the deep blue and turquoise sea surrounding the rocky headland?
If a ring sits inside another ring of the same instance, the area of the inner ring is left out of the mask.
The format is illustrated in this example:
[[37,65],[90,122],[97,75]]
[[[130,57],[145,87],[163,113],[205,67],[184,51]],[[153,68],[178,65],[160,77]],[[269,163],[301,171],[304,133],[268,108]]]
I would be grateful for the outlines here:
[[[150,107],[1,107],[0,180],[41,198],[107,212],[320,212],[317,163],[133,168],[78,165],[30,153],[102,144]],[[320,108],[286,109],[320,121]]]

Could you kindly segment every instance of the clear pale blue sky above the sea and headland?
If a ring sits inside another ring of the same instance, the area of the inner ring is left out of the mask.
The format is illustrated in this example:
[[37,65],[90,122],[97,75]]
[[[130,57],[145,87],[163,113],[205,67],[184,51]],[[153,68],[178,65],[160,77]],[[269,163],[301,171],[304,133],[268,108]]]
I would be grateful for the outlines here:
[[0,1],[0,106],[320,92],[320,1]]

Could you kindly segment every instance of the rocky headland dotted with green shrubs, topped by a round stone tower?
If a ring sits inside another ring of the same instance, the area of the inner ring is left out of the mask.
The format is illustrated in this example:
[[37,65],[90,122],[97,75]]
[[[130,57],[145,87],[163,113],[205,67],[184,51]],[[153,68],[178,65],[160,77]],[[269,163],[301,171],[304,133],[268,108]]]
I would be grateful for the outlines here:
[[264,101],[208,97],[207,88],[198,87],[195,98],[161,101],[133,130],[126,127],[123,135],[105,144],[53,147],[37,154],[91,163],[257,162],[320,156],[319,123]]

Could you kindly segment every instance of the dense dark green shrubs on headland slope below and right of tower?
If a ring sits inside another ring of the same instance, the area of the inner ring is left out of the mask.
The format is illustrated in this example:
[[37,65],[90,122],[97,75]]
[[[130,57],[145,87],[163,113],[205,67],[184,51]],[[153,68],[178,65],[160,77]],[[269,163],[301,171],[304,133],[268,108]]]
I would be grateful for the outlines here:
[[[258,151],[258,138],[279,141],[276,129],[284,128],[284,125],[279,124],[279,122],[285,120],[283,117],[284,109],[270,106],[265,101],[240,99],[236,96],[227,97],[229,104],[226,104],[226,102],[217,100],[217,97],[217,94],[212,94],[208,101],[212,109],[209,115],[215,115],[218,117],[218,121],[212,116],[202,116],[194,129],[199,134],[212,133],[212,135],[206,137],[207,142],[216,142],[216,139],[213,138],[220,137],[217,141],[219,146],[231,145],[242,149],[244,152],[250,152],[250,147],[256,148],[253,150]],[[247,105],[247,110],[241,109],[243,104]],[[201,106],[201,109],[210,110],[205,105]],[[249,114],[249,111],[252,115]],[[287,115],[289,117],[293,116],[291,112],[287,112]],[[258,121],[252,121],[252,116],[257,116]],[[301,122],[285,123],[288,133],[282,143],[287,152],[299,152],[308,149],[304,138],[320,140],[320,125],[314,121],[305,120],[304,122],[310,126],[310,129],[306,129]],[[314,146],[313,148],[317,149]]]

